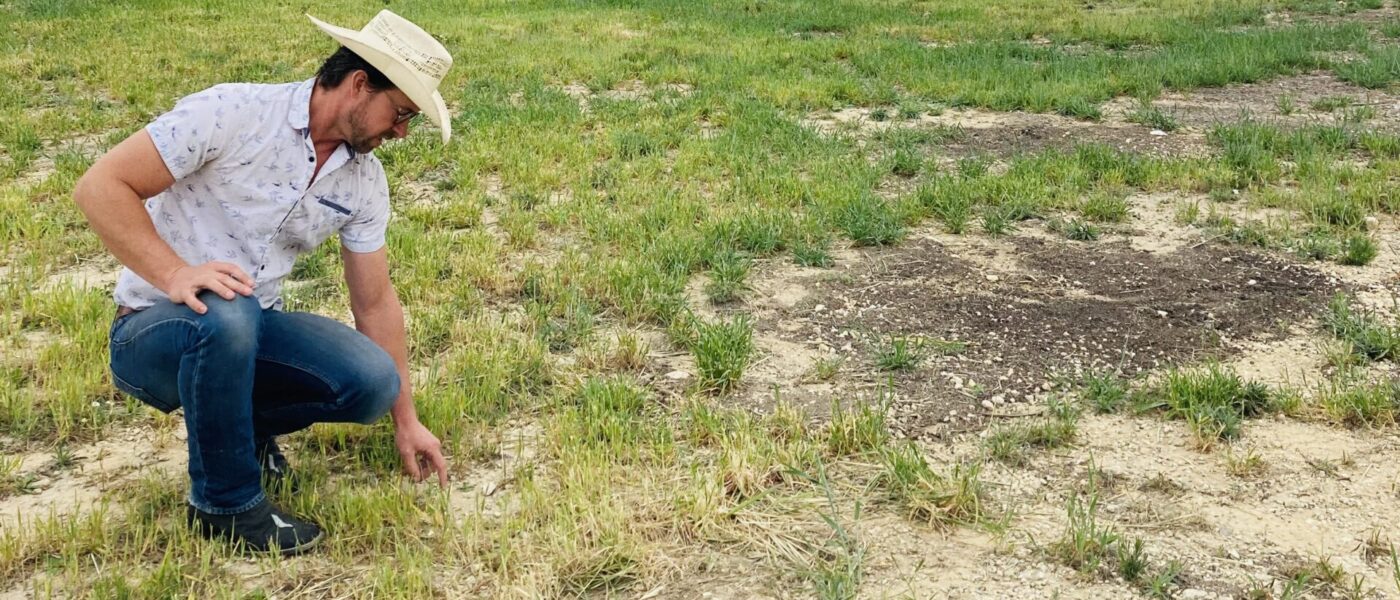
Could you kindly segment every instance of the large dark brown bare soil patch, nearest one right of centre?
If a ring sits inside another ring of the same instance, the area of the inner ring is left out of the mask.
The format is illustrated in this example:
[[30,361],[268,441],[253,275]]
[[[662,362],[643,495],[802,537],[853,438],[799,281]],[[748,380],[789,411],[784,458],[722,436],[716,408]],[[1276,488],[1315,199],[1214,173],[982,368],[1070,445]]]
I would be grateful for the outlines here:
[[[785,341],[769,343],[784,354],[771,378],[841,357],[839,393],[893,382],[893,418],[917,436],[976,427],[1000,404],[1054,389],[1057,376],[1144,373],[1280,338],[1288,331],[1281,323],[1310,317],[1340,283],[1238,248],[1144,252],[1128,242],[1042,235],[931,235],[865,250],[788,285],[804,288],[788,292],[797,299],[760,302],[755,310],[760,340]],[[895,337],[966,347],[925,350],[927,361],[914,369],[879,371],[876,357]],[[784,394],[805,404],[837,393],[794,380]]]

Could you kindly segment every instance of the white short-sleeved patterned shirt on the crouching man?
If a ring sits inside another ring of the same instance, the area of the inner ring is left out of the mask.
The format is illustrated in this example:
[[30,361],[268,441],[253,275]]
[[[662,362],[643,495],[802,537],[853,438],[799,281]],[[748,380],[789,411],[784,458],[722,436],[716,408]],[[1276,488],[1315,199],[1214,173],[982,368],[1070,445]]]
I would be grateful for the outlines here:
[[[263,308],[281,308],[281,281],[297,256],[332,235],[350,252],[385,243],[389,186],[374,154],[342,144],[312,180],[314,84],[214,85],[146,126],[175,176],[146,200],[157,234],[190,264],[242,267]],[[134,309],[169,299],[130,269],[115,298]]]

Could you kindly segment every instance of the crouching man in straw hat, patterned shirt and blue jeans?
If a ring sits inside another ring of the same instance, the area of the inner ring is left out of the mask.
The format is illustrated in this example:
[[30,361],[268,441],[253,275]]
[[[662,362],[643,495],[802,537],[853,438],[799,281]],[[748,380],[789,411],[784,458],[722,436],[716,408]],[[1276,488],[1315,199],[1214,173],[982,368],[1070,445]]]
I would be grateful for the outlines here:
[[[161,411],[185,411],[190,523],[281,554],[311,548],[322,530],[263,492],[263,480],[291,476],[279,435],[389,413],[405,471],[416,481],[437,473],[442,485],[448,471],[413,407],[385,250],[389,187],[372,152],[407,136],[420,113],[448,141],[437,87],[452,57],[389,11],[361,31],[312,22],[342,43],[315,78],[186,97],[73,192],[126,266],[113,383]],[[354,330],[281,310],[297,256],[336,234]]]

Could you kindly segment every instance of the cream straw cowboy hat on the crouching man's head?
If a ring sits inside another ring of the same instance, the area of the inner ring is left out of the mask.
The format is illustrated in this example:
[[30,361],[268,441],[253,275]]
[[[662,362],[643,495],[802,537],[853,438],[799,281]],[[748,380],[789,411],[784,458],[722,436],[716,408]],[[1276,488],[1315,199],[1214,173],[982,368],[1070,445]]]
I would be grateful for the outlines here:
[[452,55],[447,53],[447,48],[423,28],[388,10],[381,10],[360,31],[335,27],[309,14],[307,18],[393,81],[442,130],[442,143],[447,144],[452,137],[452,117],[437,91],[447,70],[452,69]]

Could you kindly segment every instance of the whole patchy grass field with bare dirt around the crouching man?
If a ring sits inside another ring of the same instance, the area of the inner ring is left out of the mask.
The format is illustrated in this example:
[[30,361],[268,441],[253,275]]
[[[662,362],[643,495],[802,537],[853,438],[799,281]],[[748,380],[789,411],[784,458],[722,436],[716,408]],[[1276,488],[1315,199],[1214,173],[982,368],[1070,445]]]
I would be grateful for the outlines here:
[[[279,561],[185,529],[70,193],[335,48],[286,3],[0,0],[0,597],[1400,594],[1393,4],[389,8],[455,57],[454,143],[377,152],[454,485],[388,422],[293,435],[330,537]],[[288,308],[349,319],[340,274]]]

